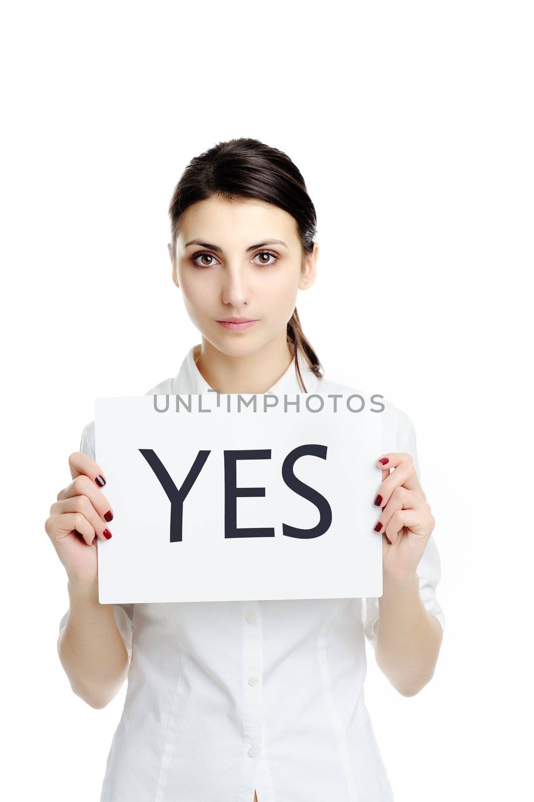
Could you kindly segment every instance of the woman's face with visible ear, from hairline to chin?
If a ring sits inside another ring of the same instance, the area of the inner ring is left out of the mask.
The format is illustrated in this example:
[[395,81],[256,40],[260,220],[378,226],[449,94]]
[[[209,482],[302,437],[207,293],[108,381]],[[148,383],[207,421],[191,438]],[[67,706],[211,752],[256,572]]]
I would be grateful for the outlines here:
[[[189,318],[218,350],[242,356],[281,332],[285,342],[297,292],[314,282],[318,245],[302,269],[290,214],[264,201],[212,196],[185,211],[174,257]],[[255,322],[230,328],[219,322],[225,318]]]

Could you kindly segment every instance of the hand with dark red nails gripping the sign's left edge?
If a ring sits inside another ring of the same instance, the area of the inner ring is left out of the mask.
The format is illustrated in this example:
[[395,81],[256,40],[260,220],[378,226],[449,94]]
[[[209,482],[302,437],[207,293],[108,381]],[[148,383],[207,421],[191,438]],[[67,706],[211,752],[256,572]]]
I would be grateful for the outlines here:
[[100,487],[106,484],[102,469],[82,452],[69,457],[72,481],[60,490],[50,508],[45,529],[71,582],[98,576],[96,539],[109,540],[107,523],[111,506]]

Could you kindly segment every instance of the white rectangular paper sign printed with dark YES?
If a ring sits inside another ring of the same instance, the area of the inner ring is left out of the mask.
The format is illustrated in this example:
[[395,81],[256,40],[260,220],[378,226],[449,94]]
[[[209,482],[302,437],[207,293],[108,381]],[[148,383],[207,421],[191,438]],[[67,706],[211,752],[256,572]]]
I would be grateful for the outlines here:
[[382,595],[369,395],[101,398],[95,447],[101,603]]

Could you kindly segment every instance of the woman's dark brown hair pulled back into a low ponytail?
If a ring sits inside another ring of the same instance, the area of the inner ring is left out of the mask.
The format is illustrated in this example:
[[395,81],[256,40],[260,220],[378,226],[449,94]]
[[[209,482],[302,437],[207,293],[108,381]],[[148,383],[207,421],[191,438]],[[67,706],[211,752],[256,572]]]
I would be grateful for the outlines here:
[[[181,215],[188,206],[213,195],[220,195],[225,201],[254,198],[284,209],[297,223],[302,265],[305,257],[313,252],[317,231],[314,204],[301,172],[289,156],[277,148],[269,148],[259,140],[241,138],[219,142],[195,156],[176,184],[168,207],[172,253],[176,249]],[[321,377],[322,365],[302,331],[297,307],[287,324],[287,342],[293,357],[300,351],[314,375]],[[307,392],[297,358],[295,369],[301,389]]]

